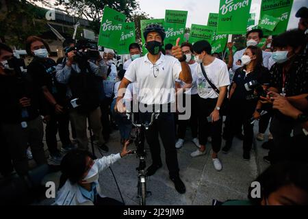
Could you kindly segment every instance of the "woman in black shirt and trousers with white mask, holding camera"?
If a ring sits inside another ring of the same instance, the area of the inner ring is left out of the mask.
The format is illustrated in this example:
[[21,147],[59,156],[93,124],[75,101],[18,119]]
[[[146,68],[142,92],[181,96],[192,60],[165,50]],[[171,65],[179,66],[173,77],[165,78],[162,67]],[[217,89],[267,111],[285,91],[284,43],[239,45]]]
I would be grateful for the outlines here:
[[[243,159],[248,161],[251,158],[251,147],[253,146],[253,125],[251,117],[259,118],[259,111],[256,106],[260,92],[266,88],[266,84],[270,81],[268,69],[262,66],[262,51],[259,47],[247,47],[241,58],[242,68],[235,71],[233,83],[231,86],[229,99],[229,131],[227,131],[226,145],[222,149],[223,153],[227,153],[232,146],[235,131],[244,126],[244,142],[243,142]],[[255,83],[255,86],[249,87],[249,84]],[[264,88],[263,88],[264,87]],[[257,95],[254,95],[257,90]],[[264,91],[265,92],[265,91]],[[266,92],[265,92],[266,95]]]

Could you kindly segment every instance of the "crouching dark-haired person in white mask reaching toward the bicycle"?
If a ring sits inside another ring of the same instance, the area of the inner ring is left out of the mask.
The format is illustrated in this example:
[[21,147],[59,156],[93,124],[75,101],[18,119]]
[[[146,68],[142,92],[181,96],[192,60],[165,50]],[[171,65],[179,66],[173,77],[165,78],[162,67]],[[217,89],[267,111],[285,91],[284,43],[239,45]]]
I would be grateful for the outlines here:
[[125,157],[129,142],[116,155],[93,160],[88,151],[74,150],[67,153],[61,163],[60,190],[55,198],[56,205],[124,205],[107,198],[99,187],[99,173]]

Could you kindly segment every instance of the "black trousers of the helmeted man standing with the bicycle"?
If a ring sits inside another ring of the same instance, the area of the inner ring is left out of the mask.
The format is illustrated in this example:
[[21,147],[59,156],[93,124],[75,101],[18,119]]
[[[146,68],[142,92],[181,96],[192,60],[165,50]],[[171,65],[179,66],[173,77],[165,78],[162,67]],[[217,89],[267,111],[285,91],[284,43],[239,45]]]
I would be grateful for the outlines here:
[[[151,121],[151,112],[140,113],[140,121]],[[162,138],[166,154],[166,164],[170,177],[179,175],[179,163],[177,161],[177,149],[175,149],[175,118],[171,112],[162,112],[153,125],[146,131],[146,142],[151,150],[153,165],[161,165],[159,136]]]

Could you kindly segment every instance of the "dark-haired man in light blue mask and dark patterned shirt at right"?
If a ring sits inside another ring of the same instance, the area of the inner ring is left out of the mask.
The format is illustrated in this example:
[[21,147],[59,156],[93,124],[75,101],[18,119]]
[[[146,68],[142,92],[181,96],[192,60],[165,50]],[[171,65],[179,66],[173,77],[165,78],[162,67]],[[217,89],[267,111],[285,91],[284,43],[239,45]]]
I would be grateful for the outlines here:
[[[270,91],[277,92],[288,100],[303,99],[308,93],[307,41],[303,31],[298,29],[286,31],[273,39],[274,53],[272,59],[276,62],[270,70]],[[261,98],[264,103],[271,103],[270,96]],[[298,121],[274,111],[270,132],[274,145],[266,162],[278,162],[285,159],[281,154],[288,148],[291,133],[293,136],[303,135],[303,128]]]

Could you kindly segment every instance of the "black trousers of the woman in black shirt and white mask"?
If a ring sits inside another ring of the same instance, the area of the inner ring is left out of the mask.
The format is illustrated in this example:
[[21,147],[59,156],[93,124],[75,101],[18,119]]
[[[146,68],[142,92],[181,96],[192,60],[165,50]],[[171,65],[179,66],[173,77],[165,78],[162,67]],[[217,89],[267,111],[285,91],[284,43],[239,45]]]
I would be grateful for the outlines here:
[[243,150],[249,152],[253,146],[253,125],[250,120],[257,103],[256,101],[231,99],[229,104],[229,130],[227,131],[226,145],[232,145],[233,137],[238,129],[243,126]]

